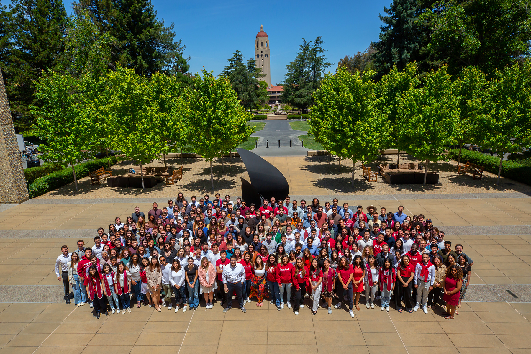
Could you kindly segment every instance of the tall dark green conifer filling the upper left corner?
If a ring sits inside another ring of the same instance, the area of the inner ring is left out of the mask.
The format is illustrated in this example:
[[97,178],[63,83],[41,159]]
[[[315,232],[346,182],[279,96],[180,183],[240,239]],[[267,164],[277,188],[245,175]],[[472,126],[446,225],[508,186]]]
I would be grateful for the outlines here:
[[[14,124],[26,129],[35,123],[35,82],[47,70],[63,67],[63,38],[68,21],[60,0],[13,0],[3,11],[2,70]],[[1,30],[0,30],[1,31]],[[16,118],[21,116],[22,118]]]

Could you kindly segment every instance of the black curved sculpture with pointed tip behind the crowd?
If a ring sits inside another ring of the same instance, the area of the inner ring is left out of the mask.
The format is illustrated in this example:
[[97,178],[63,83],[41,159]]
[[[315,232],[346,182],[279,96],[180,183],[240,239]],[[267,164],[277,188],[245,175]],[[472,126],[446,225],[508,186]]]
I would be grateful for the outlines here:
[[238,148],[236,151],[251,179],[249,183],[242,178],[242,198],[247,205],[254,203],[258,209],[264,198],[275,197],[278,201],[288,196],[288,181],[275,166],[249,150]]

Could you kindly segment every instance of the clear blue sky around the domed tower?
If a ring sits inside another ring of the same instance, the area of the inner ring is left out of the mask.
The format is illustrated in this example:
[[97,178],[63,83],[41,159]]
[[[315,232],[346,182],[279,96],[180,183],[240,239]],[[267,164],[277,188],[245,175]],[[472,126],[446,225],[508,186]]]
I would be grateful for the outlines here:
[[[63,0],[67,12],[70,1]],[[183,39],[190,71],[202,68],[220,74],[227,59],[240,50],[254,56],[254,39],[264,25],[271,48],[271,84],[284,80],[286,65],[293,61],[302,38],[322,36],[326,56],[336,70],[345,55],[363,51],[378,40],[378,15],[391,0],[336,1],[187,1],[151,0],[159,19],[175,24],[176,39]]]

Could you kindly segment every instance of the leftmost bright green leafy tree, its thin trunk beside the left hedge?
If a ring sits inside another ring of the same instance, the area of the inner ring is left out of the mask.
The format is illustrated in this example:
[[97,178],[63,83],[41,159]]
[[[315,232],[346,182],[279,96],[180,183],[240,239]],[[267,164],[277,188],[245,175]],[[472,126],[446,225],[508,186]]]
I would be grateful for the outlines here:
[[85,109],[79,80],[70,75],[44,74],[36,85],[35,97],[38,105],[31,106],[37,124],[33,125],[35,135],[45,144],[39,145],[47,162],[58,162],[72,166],[75,189],[78,180],[74,165],[90,157],[89,140],[92,120]]

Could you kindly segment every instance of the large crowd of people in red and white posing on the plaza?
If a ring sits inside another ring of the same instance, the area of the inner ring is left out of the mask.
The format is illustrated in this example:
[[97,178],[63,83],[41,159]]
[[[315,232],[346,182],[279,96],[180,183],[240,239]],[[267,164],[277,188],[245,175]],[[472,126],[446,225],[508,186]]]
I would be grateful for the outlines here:
[[227,312],[234,296],[244,313],[255,299],[295,315],[305,305],[313,315],[345,305],[355,317],[364,297],[367,309],[394,304],[400,313],[427,314],[441,306],[448,320],[459,314],[474,262],[430,219],[406,215],[402,205],[388,212],[339,206],[337,198],[321,203],[271,197],[247,205],[219,193],[188,201],[178,193],[162,209],[136,206],[98,228],[92,247],[63,246],[57,279],[66,304],[72,287],[74,304],[89,303],[98,318],[134,306],[186,312],[201,298],[205,309],[218,302]]

